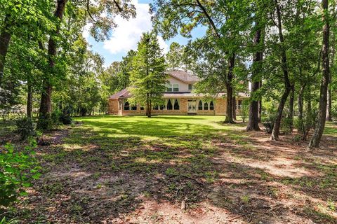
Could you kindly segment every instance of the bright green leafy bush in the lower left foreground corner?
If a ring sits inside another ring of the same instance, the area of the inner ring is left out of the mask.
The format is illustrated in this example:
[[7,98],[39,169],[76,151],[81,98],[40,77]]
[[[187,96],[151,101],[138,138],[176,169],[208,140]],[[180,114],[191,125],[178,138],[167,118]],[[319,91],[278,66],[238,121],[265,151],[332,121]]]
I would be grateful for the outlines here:
[[8,207],[25,196],[24,188],[31,186],[32,179],[39,179],[39,168],[33,157],[36,141],[31,140],[29,146],[15,149],[12,144],[0,147],[0,206]]

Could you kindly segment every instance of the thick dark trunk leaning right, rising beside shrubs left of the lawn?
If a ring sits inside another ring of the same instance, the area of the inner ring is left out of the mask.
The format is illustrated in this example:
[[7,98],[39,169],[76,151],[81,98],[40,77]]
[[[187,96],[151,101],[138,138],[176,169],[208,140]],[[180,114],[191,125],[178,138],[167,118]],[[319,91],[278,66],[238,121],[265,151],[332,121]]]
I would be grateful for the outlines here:
[[[62,21],[66,3],[67,3],[67,0],[58,0],[54,16],[58,18],[60,21]],[[49,60],[49,66],[51,68],[50,69],[51,73],[53,72],[53,68],[55,66],[55,61],[53,57],[55,57],[56,50],[57,50],[55,36],[57,36],[59,32],[60,32],[60,24],[57,25],[55,34],[54,35],[52,34],[48,41],[48,57],[49,57],[48,60]],[[52,86],[50,79],[51,77],[44,78],[44,82],[43,82],[44,86],[41,92],[39,119],[46,119],[50,116],[50,113],[51,113],[51,92],[52,92],[53,86]]]

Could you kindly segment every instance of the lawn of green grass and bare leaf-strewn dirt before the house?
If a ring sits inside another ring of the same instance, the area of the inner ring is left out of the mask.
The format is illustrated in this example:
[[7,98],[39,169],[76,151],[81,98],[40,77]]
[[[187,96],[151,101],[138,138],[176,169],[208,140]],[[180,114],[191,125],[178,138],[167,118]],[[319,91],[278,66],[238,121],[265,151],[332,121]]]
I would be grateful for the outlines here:
[[22,223],[337,223],[337,133],[305,152],[223,116],[96,116],[49,134]]

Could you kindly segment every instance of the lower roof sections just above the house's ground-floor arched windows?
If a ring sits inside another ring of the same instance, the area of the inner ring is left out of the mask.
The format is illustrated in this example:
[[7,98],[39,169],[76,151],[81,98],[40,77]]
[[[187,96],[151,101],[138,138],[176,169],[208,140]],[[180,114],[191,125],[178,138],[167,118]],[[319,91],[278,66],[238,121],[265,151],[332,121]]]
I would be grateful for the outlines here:
[[[220,98],[220,97],[225,97],[226,93],[225,92],[218,92],[215,98]],[[247,94],[244,92],[238,92],[237,93],[238,97],[249,97]],[[130,92],[128,92],[127,89],[121,90],[112,96],[110,96],[110,99],[125,99],[131,97]],[[206,97],[206,94],[200,94],[200,93],[194,93],[194,92],[166,92],[163,94],[164,98],[193,98],[193,97]]]

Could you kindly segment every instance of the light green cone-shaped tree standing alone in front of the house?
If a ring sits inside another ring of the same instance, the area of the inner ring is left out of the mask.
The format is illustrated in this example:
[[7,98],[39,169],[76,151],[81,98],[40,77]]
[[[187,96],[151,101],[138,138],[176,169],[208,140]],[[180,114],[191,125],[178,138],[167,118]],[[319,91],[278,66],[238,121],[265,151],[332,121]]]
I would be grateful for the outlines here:
[[164,55],[154,33],[143,34],[138,43],[137,54],[133,57],[131,71],[131,104],[146,106],[147,117],[151,117],[152,106],[163,104],[166,90],[166,70]]

